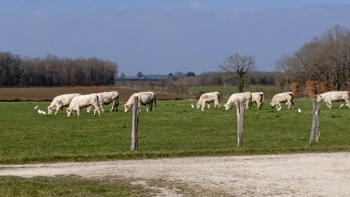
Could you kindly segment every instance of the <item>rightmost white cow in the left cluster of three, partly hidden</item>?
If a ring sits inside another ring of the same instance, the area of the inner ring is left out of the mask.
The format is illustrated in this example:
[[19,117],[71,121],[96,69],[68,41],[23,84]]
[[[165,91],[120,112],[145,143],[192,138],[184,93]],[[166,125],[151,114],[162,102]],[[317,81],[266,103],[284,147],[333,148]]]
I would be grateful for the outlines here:
[[[115,111],[118,111],[119,106],[119,93],[117,91],[106,91],[106,92],[100,92],[95,93],[98,97],[98,106],[100,107],[101,111],[104,112],[103,104],[109,104],[112,103],[112,108],[109,112],[112,112],[113,109]],[[93,106],[90,105],[87,107],[87,112],[91,112]]]

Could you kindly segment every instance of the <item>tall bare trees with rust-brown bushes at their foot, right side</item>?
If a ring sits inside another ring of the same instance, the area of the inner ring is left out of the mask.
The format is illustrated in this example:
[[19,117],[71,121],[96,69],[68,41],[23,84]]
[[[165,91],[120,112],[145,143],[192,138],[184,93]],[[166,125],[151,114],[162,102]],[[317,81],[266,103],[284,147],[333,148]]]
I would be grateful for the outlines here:
[[[314,89],[345,90],[350,85],[350,31],[339,25],[314,37],[291,55],[277,62],[289,83]],[[320,93],[320,92],[318,92]]]

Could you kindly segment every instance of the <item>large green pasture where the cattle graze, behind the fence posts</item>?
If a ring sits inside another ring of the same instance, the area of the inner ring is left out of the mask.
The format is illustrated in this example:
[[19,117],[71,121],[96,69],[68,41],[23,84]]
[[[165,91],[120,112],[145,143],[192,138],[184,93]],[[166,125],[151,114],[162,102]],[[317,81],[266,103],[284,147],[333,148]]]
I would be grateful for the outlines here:
[[[222,100],[222,104],[225,100]],[[94,117],[38,114],[48,102],[0,102],[0,163],[93,161],[192,155],[241,155],[350,150],[350,109],[326,108],[321,102],[319,143],[309,145],[312,104],[296,99],[294,109],[282,105],[244,113],[244,147],[236,147],[235,109],[191,108],[196,100],[157,101],[139,114],[138,150],[130,151],[132,112],[104,112]],[[122,102],[121,104],[124,104]],[[339,103],[333,103],[338,107]],[[110,106],[106,105],[108,111]],[[298,113],[297,108],[302,112]],[[65,110],[65,109],[64,109]]]

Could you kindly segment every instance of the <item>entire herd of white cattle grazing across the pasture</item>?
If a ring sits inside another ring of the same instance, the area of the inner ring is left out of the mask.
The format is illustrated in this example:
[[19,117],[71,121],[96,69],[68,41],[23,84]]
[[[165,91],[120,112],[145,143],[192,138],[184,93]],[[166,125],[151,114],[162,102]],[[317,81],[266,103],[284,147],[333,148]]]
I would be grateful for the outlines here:
[[[127,112],[133,105],[133,98],[138,97],[138,108],[141,105],[148,104],[147,111],[152,110],[152,105],[156,107],[156,99],[155,93],[152,91],[143,91],[138,93],[133,93],[127,102],[124,104],[124,111]],[[251,103],[257,103],[257,109],[261,109],[263,103],[263,92],[242,92],[242,93],[233,93],[229,96],[227,103],[223,106],[226,110],[230,109],[233,105],[237,105],[238,102],[243,102],[245,105],[245,109],[250,109]],[[350,93],[348,91],[328,91],[325,93],[321,93],[317,95],[317,102],[323,99],[326,105],[331,108],[332,101],[344,101],[348,108],[350,108]],[[273,108],[276,106],[277,110],[281,109],[280,103],[288,104],[288,109],[290,107],[294,108],[294,95],[292,92],[283,92],[275,94],[269,106]],[[203,93],[198,102],[196,103],[197,108],[201,108],[202,110],[207,104],[207,108],[210,108],[210,102],[214,102],[214,108],[221,108],[220,103],[220,94],[217,91]],[[66,108],[67,116],[69,117],[72,113],[75,116],[79,116],[81,108],[87,107],[87,112],[90,112],[93,109],[93,115],[101,115],[101,111],[103,112],[103,105],[110,104],[111,109],[110,112],[118,110],[119,106],[119,93],[117,91],[109,91],[109,92],[100,92],[100,93],[91,93],[86,95],[80,95],[79,93],[71,93],[71,94],[62,94],[53,98],[51,104],[47,107],[48,114],[52,114],[53,110],[56,110],[54,114],[57,114],[57,111],[60,109],[61,113],[63,113],[63,107],[68,106]],[[340,107],[342,107],[344,103],[341,103]],[[339,107],[339,108],[340,108]]]

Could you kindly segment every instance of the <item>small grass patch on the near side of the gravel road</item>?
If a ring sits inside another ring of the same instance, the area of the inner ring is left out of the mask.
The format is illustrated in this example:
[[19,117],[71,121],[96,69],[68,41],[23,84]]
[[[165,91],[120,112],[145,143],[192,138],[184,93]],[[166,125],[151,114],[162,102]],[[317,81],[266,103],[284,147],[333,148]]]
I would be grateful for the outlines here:
[[130,180],[83,179],[78,176],[0,176],[1,196],[145,196],[154,191]]

